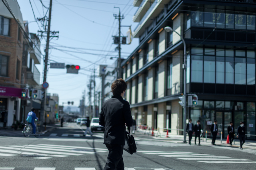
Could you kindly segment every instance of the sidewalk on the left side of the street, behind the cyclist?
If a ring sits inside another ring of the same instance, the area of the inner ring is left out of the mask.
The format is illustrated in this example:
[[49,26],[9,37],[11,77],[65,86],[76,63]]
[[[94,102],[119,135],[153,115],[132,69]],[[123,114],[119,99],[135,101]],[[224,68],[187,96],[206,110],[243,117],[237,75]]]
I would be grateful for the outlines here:
[[[45,127],[42,127],[42,134],[45,134],[46,132],[49,132],[57,127],[60,127],[60,123],[55,123],[55,124],[48,124],[46,125],[46,130]],[[0,128],[0,136],[12,136],[12,137],[24,137],[24,134],[22,133],[23,129],[7,129],[7,128]]]

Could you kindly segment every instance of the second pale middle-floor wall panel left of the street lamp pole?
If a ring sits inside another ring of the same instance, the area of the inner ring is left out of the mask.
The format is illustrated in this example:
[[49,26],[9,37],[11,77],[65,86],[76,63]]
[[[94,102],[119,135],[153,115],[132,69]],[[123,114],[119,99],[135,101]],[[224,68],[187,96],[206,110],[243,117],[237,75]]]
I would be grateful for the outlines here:
[[164,97],[165,83],[166,83],[166,67],[167,61],[164,60],[159,63],[159,73],[158,73],[158,98]]

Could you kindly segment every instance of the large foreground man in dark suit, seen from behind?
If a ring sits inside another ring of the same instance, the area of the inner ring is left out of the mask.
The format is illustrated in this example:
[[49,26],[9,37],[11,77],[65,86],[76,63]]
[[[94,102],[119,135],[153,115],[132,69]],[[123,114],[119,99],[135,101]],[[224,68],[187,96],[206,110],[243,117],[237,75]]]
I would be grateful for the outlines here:
[[105,127],[104,144],[109,151],[104,170],[124,170],[125,125],[132,126],[130,105],[123,99],[126,87],[123,79],[115,80],[111,85],[113,96],[101,108],[99,124]]

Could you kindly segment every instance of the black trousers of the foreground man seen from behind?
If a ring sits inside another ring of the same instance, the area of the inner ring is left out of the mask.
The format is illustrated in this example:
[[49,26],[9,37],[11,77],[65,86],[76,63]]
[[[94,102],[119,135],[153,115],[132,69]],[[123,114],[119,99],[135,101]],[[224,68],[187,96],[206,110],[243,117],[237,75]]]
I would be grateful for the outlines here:
[[108,160],[104,170],[124,170],[123,152],[124,146],[119,144],[106,144],[108,148]]

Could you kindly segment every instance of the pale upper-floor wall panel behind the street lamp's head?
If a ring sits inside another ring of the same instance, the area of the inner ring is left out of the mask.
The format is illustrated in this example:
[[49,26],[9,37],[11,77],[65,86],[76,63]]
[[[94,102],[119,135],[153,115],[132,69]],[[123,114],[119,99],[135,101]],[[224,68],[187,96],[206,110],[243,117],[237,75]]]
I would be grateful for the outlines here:
[[[183,37],[183,14],[182,13],[176,16],[176,18],[174,18],[172,28]],[[175,32],[173,32],[172,44],[175,44],[178,41],[180,41],[180,36]]]

